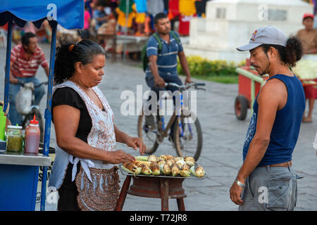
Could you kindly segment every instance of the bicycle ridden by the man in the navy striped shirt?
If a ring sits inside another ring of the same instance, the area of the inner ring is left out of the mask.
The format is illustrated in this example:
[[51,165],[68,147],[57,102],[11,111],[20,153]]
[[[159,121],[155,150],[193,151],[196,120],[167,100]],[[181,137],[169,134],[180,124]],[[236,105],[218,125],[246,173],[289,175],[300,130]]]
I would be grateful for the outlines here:
[[[154,153],[159,147],[159,144],[162,143],[163,139],[169,135],[168,131],[170,128],[174,126],[173,139],[170,139],[170,141],[172,141],[173,147],[175,148],[178,156],[192,156],[195,160],[198,160],[202,148],[201,126],[198,118],[194,115],[194,112],[184,107],[182,98],[183,91],[191,87],[206,91],[204,88],[199,88],[199,86],[204,85],[204,83],[190,83],[180,86],[175,83],[166,83],[166,86],[178,87],[180,91],[179,101],[181,105],[179,109],[173,108],[173,115],[170,117],[167,126],[165,126],[164,117],[161,115],[162,113],[160,113],[160,106],[162,105],[161,98],[157,104],[156,115],[152,114],[154,116],[154,126],[147,126],[143,105],[142,112],[140,113],[137,122],[137,134],[147,145],[147,150],[145,150],[146,153]],[[165,98],[165,100],[166,99],[167,98]],[[178,112],[176,112],[177,110]],[[175,122],[175,120],[178,120],[178,122]],[[192,143],[192,146],[188,146],[189,143]]]

